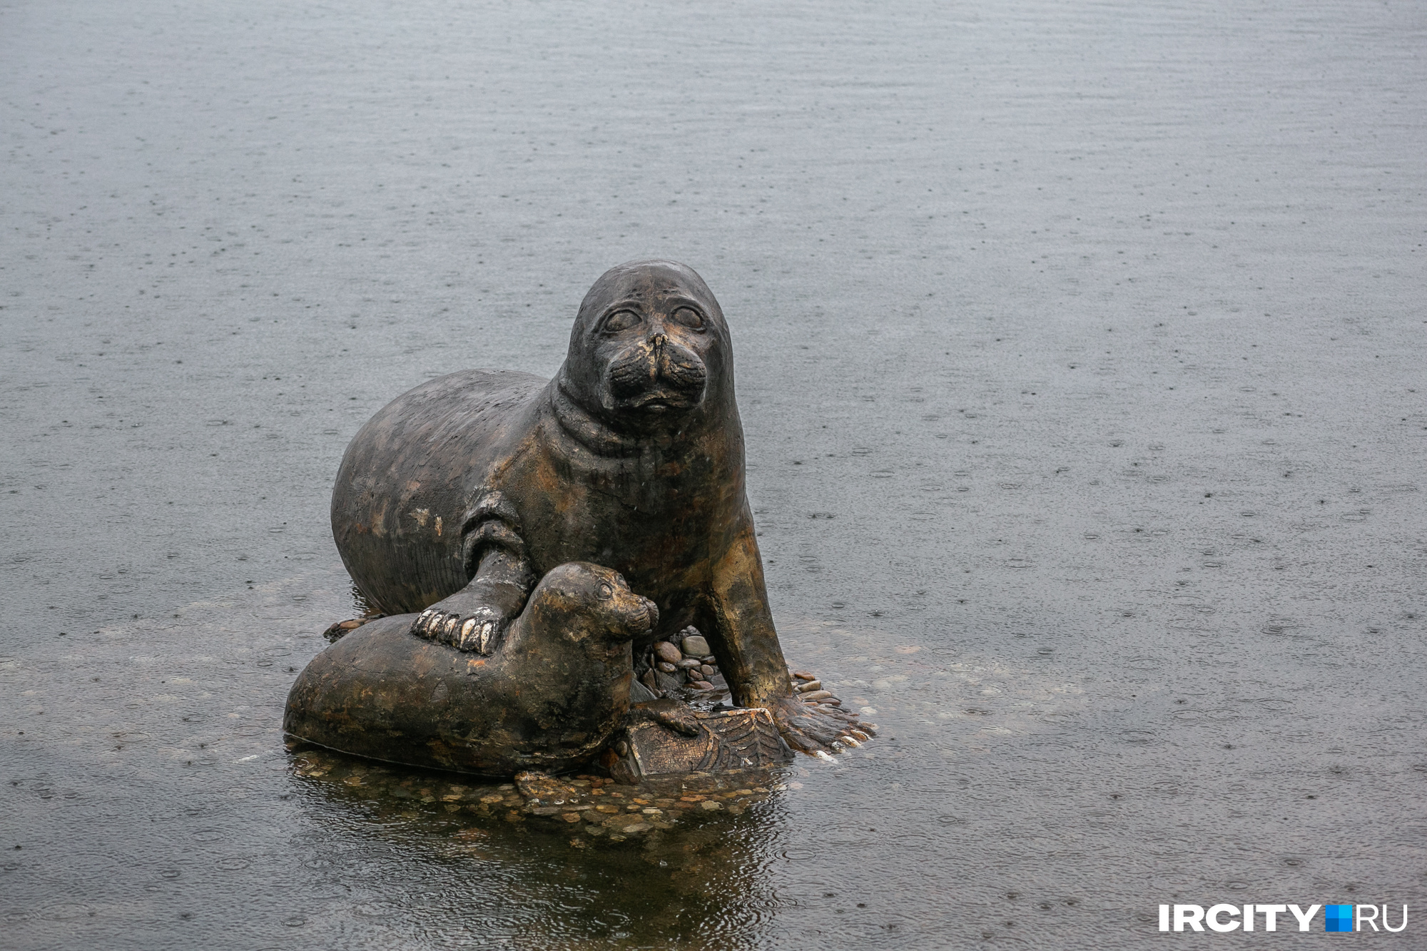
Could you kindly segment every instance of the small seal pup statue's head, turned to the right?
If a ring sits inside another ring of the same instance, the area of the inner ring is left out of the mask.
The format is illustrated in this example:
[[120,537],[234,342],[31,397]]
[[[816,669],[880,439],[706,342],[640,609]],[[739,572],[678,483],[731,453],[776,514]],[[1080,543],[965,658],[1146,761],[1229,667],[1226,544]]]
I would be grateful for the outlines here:
[[535,591],[537,624],[552,625],[577,643],[624,644],[659,623],[659,608],[629,590],[624,575],[588,561],[551,568]]

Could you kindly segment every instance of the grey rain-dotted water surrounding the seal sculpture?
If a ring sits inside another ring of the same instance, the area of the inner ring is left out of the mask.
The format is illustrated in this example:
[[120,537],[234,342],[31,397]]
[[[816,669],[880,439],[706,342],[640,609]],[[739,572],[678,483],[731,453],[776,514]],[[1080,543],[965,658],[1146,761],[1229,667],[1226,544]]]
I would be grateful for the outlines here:
[[[1120,948],[1159,902],[1421,907],[1424,34],[4,4],[0,944]],[[311,775],[278,727],[354,611],[347,440],[430,376],[552,373],[651,254],[729,317],[789,661],[882,735],[578,847]]]

